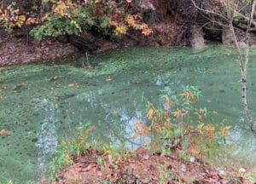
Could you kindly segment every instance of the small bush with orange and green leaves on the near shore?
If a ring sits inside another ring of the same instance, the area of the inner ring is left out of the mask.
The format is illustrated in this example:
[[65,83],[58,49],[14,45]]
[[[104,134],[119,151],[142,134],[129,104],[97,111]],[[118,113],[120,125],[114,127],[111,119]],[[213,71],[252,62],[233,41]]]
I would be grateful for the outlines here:
[[179,95],[164,95],[163,106],[156,107],[148,102],[149,126],[137,120],[135,137],[150,136],[150,147],[181,149],[198,158],[211,156],[211,148],[225,141],[231,126],[213,126],[215,110],[196,107],[201,91],[188,87]]

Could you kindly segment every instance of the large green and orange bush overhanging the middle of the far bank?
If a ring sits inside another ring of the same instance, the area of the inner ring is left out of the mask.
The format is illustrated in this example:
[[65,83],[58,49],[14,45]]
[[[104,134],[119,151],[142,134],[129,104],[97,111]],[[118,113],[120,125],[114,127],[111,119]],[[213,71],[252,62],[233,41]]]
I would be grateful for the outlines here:
[[123,35],[129,29],[139,30],[144,35],[152,32],[143,23],[140,9],[134,3],[116,3],[111,0],[86,3],[44,0],[44,3],[51,7],[50,11],[40,20],[41,25],[31,32],[38,39],[89,31],[103,36]]

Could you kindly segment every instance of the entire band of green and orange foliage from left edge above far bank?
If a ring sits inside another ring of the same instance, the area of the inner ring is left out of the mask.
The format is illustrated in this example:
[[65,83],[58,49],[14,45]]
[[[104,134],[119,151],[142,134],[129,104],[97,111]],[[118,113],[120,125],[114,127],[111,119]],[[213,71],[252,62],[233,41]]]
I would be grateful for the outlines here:
[[150,8],[146,2],[42,0],[29,10],[17,3],[0,7],[0,29],[11,32],[21,26],[32,26],[30,34],[60,37],[93,31],[102,36],[120,36],[138,30],[148,36],[152,30],[143,21],[142,12]]

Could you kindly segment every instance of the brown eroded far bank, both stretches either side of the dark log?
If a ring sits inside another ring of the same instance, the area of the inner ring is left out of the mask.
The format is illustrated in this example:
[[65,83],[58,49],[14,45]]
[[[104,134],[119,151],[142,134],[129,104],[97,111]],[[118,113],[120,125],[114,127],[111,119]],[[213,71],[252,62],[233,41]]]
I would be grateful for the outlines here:
[[[167,16],[165,20],[152,25],[154,33],[149,37],[139,32],[130,32],[119,39],[96,37],[98,48],[94,52],[104,52],[131,46],[183,46],[187,30],[185,23]],[[0,66],[21,65],[30,62],[47,62],[55,58],[83,53],[71,43],[63,43],[53,37],[41,41],[17,32],[0,32]]]

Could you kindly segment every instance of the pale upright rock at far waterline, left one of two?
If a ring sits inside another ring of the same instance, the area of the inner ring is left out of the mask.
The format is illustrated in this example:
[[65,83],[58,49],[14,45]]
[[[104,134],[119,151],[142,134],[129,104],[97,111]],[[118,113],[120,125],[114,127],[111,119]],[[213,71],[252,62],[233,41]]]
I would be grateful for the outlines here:
[[192,26],[190,29],[190,37],[189,37],[190,46],[193,49],[204,49],[205,39],[204,33],[201,31],[200,26]]

